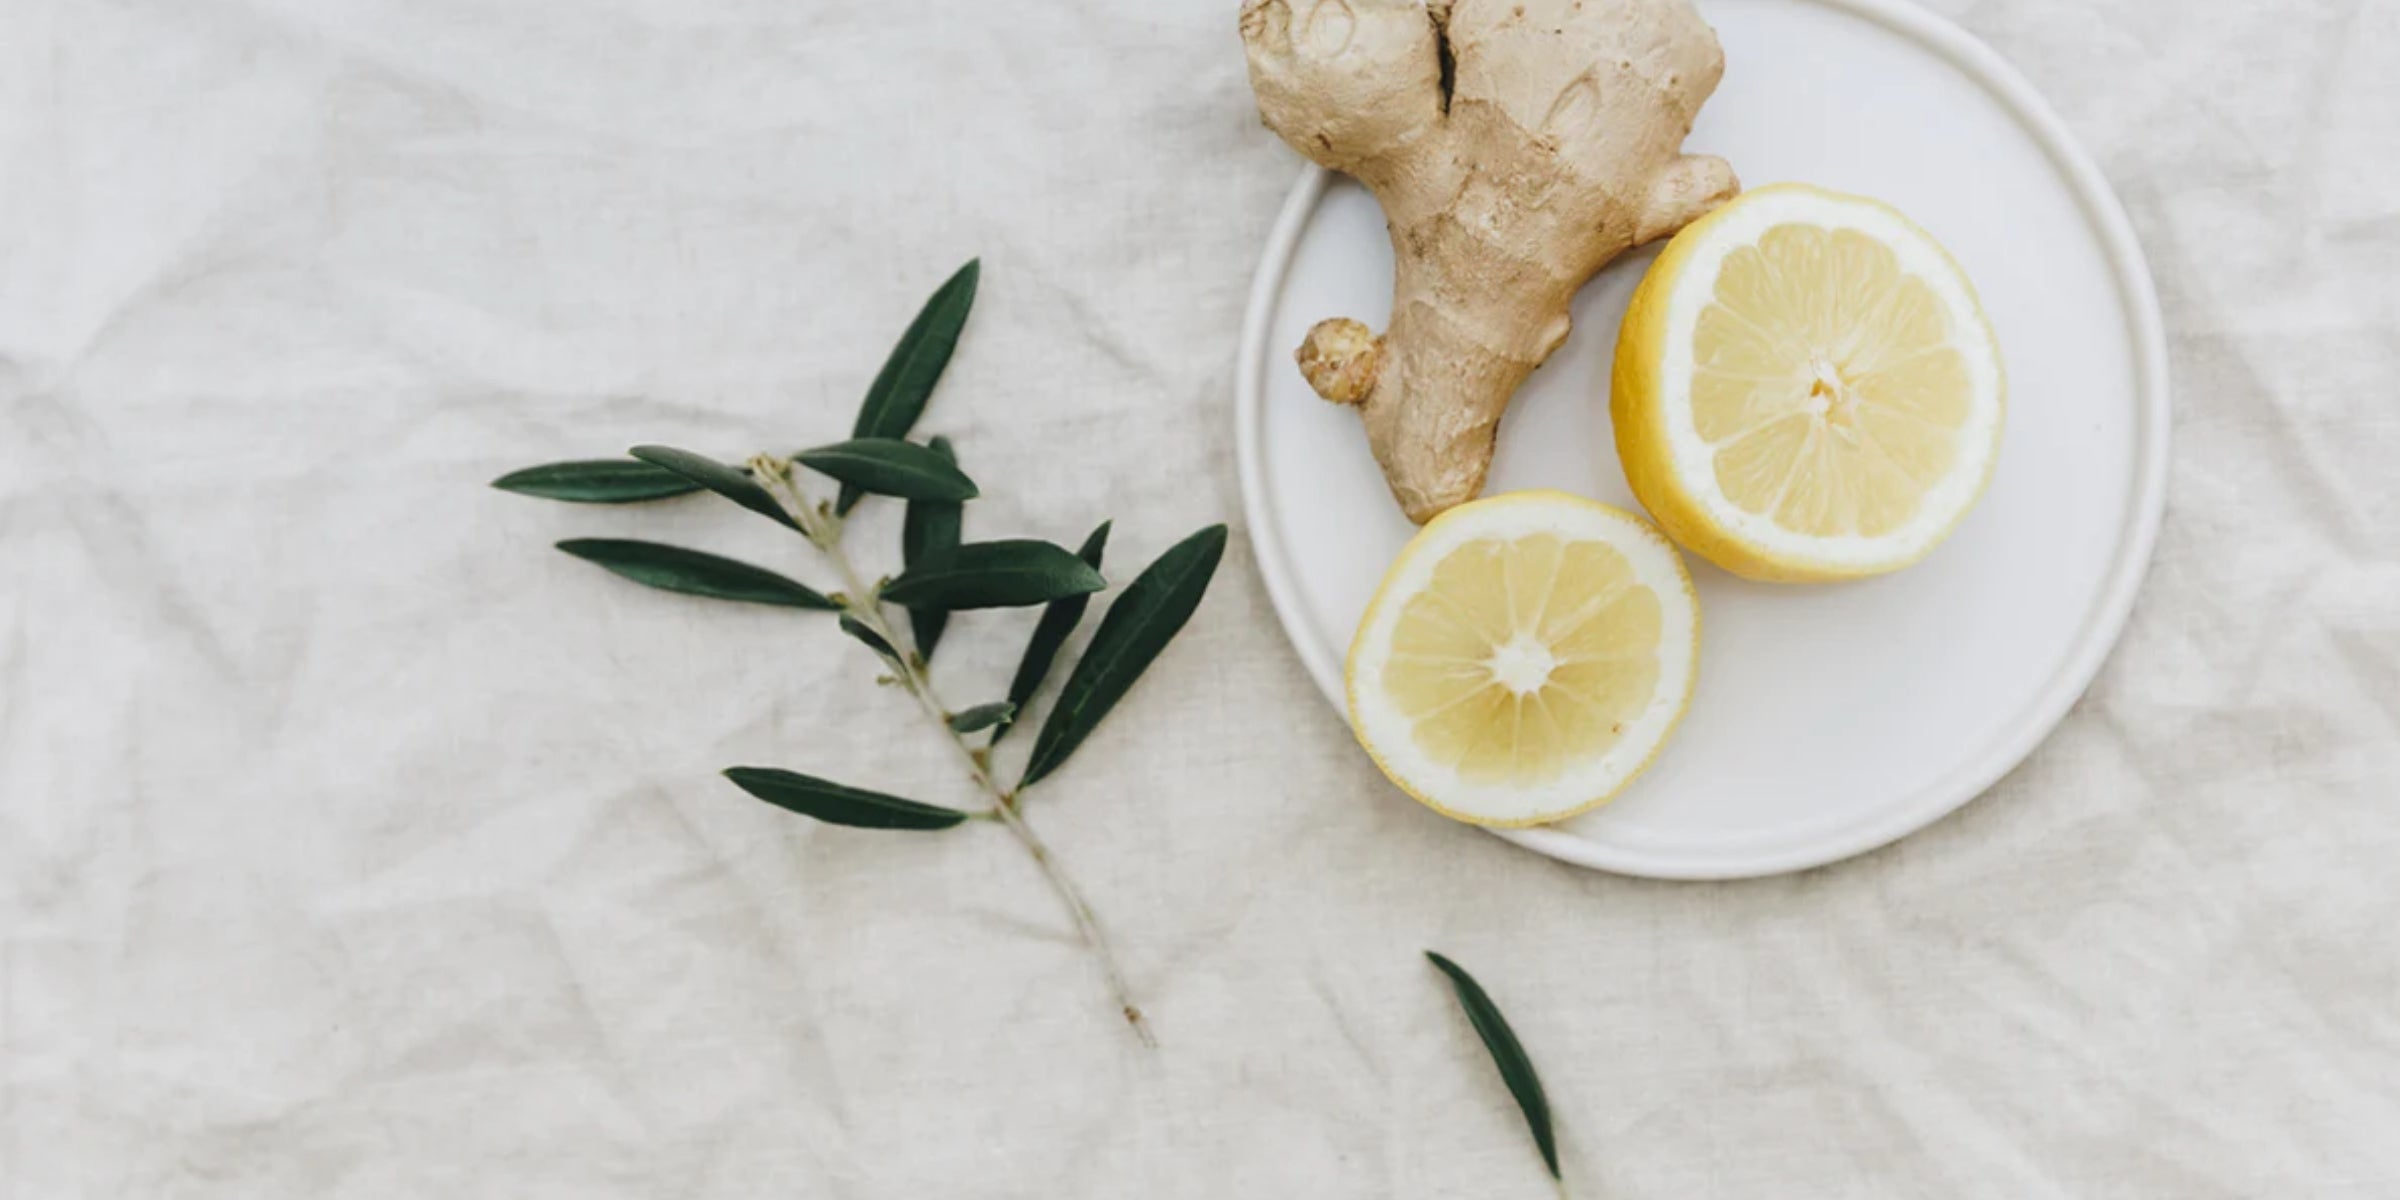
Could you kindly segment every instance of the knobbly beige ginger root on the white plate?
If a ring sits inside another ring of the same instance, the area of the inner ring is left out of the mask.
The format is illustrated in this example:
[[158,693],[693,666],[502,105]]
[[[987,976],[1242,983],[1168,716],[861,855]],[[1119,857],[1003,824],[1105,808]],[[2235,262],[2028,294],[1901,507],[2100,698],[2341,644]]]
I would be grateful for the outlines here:
[[1298,362],[1418,523],[1483,490],[1574,290],[1740,190],[1682,154],[1726,67],[1690,0],[1246,0],[1241,41],[1267,127],[1382,202],[1390,331],[1320,322]]

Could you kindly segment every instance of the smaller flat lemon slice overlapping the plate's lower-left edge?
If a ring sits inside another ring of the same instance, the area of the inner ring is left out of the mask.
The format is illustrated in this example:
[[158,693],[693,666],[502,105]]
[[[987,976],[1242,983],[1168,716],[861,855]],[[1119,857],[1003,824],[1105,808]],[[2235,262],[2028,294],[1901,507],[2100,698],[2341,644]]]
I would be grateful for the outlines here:
[[1536,826],[1658,756],[1697,660],[1692,576],[1658,530],[1512,492],[1433,518],[1382,576],[1351,641],[1351,730],[1435,811]]

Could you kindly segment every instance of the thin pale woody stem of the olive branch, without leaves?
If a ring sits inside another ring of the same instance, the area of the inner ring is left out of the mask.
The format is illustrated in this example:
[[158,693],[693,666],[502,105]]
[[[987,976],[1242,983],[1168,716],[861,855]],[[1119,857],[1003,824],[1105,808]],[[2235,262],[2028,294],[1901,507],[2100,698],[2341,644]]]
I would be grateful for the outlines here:
[[1092,905],[1085,902],[1082,890],[1075,888],[1073,878],[1068,878],[1056,854],[1051,854],[1049,845],[1042,842],[1042,835],[1025,823],[1025,816],[1018,811],[1015,792],[1001,787],[1001,780],[991,775],[989,756],[979,754],[967,744],[965,734],[950,727],[950,708],[941,703],[941,694],[934,691],[934,677],[926,674],[924,658],[917,653],[914,641],[900,634],[900,626],[883,612],[883,600],[878,598],[876,586],[866,583],[866,576],[859,574],[859,569],[850,562],[850,554],[842,550],[842,518],[833,516],[830,509],[816,506],[806,490],[799,487],[799,480],[792,478],[790,461],[761,454],[749,461],[749,468],[751,475],[766,485],[768,494],[775,497],[775,504],[780,504],[785,514],[799,523],[809,545],[814,545],[818,554],[833,562],[833,569],[840,571],[842,612],[898,650],[895,670],[900,672],[900,686],[917,698],[917,708],[924,710],[926,720],[931,720],[936,730],[941,730],[941,737],[958,746],[958,756],[967,763],[967,775],[984,792],[984,797],[991,799],[991,809],[977,816],[996,818],[1010,835],[1015,835],[1018,845],[1025,847],[1025,854],[1034,859],[1034,866],[1042,869],[1042,878],[1049,881],[1051,890],[1058,893],[1058,900],[1066,902],[1068,917],[1075,919],[1075,934],[1082,938],[1085,948],[1092,950],[1092,958],[1099,960],[1099,974],[1106,979],[1109,994],[1116,998],[1116,1008],[1123,1013],[1126,1025],[1133,1027],[1133,1037],[1138,1037],[1145,1046],[1157,1046],[1159,1042],[1152,1037],[1150,1022],[1142,1018],[1142,1008],[1133,1003],[1133,989],[1126,986],[1126,972],[1116,965],[1109,936],[1099,929],[1099,917],[1092,914]]

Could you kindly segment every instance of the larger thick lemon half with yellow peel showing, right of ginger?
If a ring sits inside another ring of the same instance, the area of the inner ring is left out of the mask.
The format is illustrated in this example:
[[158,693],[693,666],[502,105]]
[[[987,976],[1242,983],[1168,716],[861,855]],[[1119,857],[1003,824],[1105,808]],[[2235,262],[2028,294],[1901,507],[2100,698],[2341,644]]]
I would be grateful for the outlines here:
[[1898,211],[1817,187],[1759,187],[1678,233],[1618,331],[1625,478],[1738,576],[1922,559],[1992,478],[2002,408],[1958,264]]

